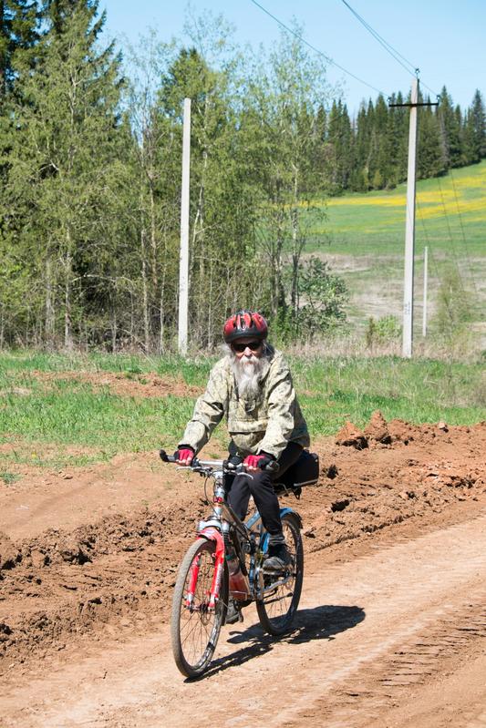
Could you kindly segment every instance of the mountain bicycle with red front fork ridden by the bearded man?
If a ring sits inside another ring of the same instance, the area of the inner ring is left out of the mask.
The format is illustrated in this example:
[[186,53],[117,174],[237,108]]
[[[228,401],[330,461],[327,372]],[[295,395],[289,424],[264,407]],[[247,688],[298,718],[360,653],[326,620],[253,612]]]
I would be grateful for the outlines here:
[[[164,462],[175,456],[160,450]],[[265,469],[278,468],[268,462]],[[290,628],[300,600],[304,577],[302,520],[292,508],[281,508],[280,516],[292,563],[281,575],[264,573],[268,533],[257,510],[241,521],[226,501],[225,477],[243,474],[242,465],[229,460],[194,458],[190,469],[214,480],[212,514],[197,528],[197,538],[181,561],[174,587],[171,615],[172,651],[183,675],[202,675],[212,661],[230,600],[238,608],[256,603],[264,631],[279,636]],[[278,491],[277,491],[278,492]],[[206,494],[207,497],[207,494]],[[209,498],[207,498],[209,502]]]

